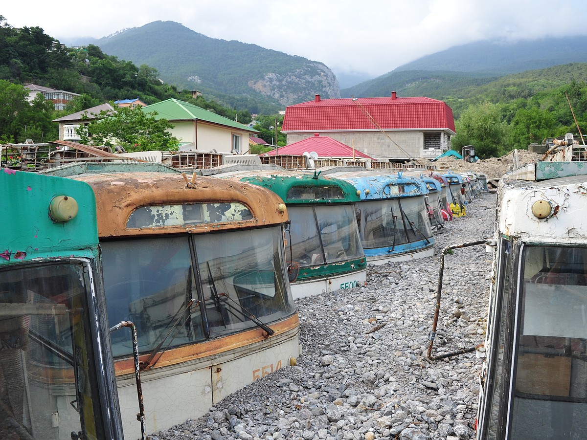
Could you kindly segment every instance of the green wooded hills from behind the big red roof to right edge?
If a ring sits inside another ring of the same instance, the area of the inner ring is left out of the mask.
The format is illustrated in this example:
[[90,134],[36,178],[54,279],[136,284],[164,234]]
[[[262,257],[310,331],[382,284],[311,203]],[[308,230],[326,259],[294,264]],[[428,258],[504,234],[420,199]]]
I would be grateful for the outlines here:
[[502,77],[400,70],[347,89],[345,94],[390,96],[392,91],[399,96],[446,101],[456,121],[452,147],[460,150],[464,145],[475,145],[482,158],[569,132],[580,138],[579,130],[587,131],[587,63]]

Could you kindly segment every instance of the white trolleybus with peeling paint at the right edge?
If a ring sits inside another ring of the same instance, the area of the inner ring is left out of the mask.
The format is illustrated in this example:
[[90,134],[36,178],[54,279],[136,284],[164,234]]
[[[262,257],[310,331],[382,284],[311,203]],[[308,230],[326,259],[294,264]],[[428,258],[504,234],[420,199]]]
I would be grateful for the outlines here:
[[587,438],[585,164],[500,181],[480,439]]

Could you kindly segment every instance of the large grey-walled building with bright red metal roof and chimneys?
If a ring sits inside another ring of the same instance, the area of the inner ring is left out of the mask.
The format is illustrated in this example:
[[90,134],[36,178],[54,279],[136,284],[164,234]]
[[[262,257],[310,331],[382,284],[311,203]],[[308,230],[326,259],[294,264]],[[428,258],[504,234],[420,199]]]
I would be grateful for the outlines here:
[[450,149],[450,137],[456,134],[453,110],[444,101],[402,98],[396,92],[352,99],[316,94],[313,101],[286,108],[282,133],[287,134],[286,147],[319,133],[386,158],[436,157]]

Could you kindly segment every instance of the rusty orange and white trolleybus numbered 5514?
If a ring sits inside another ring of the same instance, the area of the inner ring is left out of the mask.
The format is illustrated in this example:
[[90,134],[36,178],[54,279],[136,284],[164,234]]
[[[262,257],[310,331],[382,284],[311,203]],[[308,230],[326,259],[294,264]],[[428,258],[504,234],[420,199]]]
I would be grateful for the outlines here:
[[[295,363],[287,214],[273,192],[175,172],[75,178],[96,195],[110,324],[129,319],[139,332],[147,432],[199,417]],[[134,438],[131,348],[111,339],[124,431]]]

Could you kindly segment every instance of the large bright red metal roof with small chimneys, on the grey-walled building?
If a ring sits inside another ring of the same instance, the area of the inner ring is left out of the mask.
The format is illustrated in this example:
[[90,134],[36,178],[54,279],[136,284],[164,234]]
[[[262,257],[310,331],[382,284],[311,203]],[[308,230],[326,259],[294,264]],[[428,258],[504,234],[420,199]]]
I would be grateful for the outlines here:
[[282,131],[450,130],[453,110],[444,101],[426,97],[341,98],[307,101],[285,110]]

